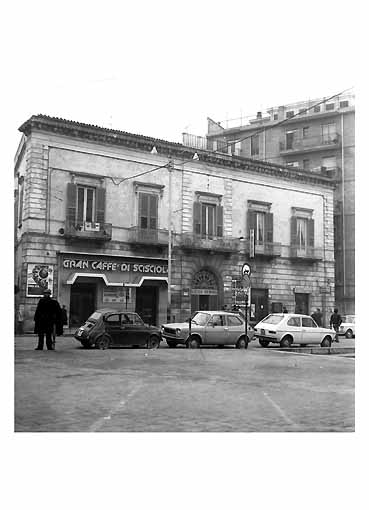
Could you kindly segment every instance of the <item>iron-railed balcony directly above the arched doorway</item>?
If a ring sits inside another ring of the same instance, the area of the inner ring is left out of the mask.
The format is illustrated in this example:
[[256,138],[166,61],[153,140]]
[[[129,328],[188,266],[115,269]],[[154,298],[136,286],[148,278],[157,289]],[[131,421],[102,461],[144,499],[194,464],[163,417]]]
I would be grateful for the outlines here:
[[239,251],[240,240],[237,237],[202,237],[201,235],[186,233],[177,236],[177,244],[183,250],[201,250],[217,253],[232,253]]

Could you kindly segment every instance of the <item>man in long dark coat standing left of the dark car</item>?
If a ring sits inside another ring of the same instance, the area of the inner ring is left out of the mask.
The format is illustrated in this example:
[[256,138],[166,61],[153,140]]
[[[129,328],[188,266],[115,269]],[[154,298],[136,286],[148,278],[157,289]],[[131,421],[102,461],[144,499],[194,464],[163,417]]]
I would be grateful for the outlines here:
[[46,347],[48,350],[55,349],[55,334],[63,334],[61,309],[56,299],[51,299],[50,289],[44,291],[43,297],[38,302],[35,316],[35,333],[38,334],[37,351],[44,348],[44,335],[46,335]]

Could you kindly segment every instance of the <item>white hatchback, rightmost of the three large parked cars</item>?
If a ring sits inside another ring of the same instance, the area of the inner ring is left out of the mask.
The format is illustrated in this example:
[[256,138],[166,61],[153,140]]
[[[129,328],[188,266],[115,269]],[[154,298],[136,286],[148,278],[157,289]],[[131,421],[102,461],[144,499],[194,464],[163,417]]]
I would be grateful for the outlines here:
[[281,347],[292,344],[320,344],[330,347],[335,336],[332,329],[322,328],[309,315],[272,313],[255,326],[255,337],[262,347],[279,343]]

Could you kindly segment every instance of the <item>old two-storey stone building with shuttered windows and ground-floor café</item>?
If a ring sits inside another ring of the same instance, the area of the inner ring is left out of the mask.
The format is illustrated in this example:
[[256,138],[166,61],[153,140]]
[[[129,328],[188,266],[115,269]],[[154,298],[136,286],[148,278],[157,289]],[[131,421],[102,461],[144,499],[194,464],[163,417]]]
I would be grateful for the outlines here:
[[334,183],[321,173],[33,116],[15,158],[15,304],[42,290],[71,327],[97,308],[146,322],[241,304],[250,319],[335,303]]

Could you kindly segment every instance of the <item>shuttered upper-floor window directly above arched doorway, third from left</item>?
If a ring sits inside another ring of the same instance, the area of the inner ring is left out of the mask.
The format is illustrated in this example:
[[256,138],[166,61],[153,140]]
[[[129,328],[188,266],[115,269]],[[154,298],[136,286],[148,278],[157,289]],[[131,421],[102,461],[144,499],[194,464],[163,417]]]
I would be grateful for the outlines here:
[[193,231],[207,239],[223,237],[223,206],[221,195],[208,192],[196,192],[197,200],[193,204]]

